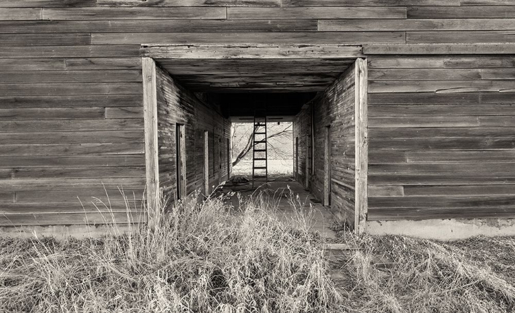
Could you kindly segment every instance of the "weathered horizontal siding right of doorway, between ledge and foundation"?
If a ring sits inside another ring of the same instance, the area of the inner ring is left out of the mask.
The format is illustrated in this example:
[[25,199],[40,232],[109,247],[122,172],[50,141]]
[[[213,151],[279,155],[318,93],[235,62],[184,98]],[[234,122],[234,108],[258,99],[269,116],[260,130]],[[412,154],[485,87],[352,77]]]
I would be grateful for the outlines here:
[[511,56],[369,58],[369,220],[514,216],[514,69]]

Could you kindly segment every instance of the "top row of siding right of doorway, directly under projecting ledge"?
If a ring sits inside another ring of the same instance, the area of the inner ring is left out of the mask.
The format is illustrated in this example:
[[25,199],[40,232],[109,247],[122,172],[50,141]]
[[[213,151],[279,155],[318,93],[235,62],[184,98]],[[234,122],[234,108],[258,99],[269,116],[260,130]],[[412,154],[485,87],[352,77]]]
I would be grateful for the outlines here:
[[453,57],[374,57],[370,68],[506,68],[515,67],[512,56],[453,56]]

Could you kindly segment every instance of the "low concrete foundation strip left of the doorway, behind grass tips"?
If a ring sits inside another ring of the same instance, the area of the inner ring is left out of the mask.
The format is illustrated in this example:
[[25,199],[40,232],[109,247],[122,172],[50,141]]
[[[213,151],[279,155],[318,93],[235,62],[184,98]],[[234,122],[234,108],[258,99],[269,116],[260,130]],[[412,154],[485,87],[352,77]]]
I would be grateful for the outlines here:
[[109,234],[127,234],[138,225],[54,225],[54,226],[19,226],[0,227],[0,237],[41,238],[54,237],[57,240],[68,238],[99,238]]

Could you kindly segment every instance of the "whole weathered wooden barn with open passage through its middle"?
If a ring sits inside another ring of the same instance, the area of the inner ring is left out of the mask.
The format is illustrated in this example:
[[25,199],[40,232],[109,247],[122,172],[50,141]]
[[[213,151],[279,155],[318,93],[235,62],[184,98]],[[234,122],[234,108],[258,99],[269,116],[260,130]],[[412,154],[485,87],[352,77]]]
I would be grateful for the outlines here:
[[356,230],[515,234],[514,31],[512,0],[0,0],[0,226],[209,192],[261,99]]

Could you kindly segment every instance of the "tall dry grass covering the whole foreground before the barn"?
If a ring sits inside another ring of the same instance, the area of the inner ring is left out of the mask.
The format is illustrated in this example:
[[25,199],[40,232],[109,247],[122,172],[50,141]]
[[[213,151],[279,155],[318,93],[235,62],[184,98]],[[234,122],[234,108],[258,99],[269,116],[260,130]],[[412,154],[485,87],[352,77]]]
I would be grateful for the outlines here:
[[[259,199],[258,199],[259,200]],[[354,236],[323,258],[299,214],[253,201],[158,211],[154,229],[90,240],[0,239],[0,312],[514,312],[515,240]],[[293,226],[294,225],[294,226]],[[391,272],[371,266],[377,256]],[[341,273],[330,279],[331,271]]]

